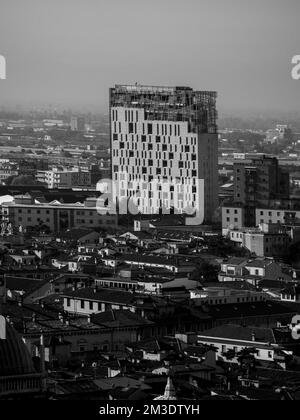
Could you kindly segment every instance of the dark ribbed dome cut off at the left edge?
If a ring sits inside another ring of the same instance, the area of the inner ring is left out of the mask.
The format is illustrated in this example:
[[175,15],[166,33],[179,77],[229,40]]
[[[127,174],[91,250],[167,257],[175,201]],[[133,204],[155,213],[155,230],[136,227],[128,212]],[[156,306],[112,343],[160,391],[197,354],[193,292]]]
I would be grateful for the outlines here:
[[35,373],[35,369],[27,347],[6,322],[6,340],[0,339],[0,377],[31,373]]

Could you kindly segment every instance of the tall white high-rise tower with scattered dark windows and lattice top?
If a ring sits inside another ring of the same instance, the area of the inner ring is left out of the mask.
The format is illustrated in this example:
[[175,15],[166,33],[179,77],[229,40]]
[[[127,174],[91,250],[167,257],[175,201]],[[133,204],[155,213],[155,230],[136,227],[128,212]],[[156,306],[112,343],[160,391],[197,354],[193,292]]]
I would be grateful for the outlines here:
[[115,200],[138,195],[144,214],[185,213],[199,202],[205,221],[212,220],[218,205],[216,97],[188,87],[110,90]]

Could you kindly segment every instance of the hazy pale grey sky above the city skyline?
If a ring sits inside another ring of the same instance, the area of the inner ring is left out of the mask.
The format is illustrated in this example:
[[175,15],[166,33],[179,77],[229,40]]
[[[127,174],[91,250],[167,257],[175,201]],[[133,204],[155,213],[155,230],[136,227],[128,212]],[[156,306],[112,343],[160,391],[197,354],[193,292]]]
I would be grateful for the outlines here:
[[299,111],[299,18],[299,0],[0,0],[0,106],[103,109],[110,86],[139,82]]

